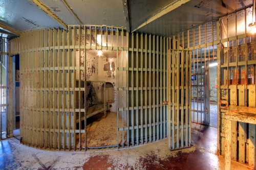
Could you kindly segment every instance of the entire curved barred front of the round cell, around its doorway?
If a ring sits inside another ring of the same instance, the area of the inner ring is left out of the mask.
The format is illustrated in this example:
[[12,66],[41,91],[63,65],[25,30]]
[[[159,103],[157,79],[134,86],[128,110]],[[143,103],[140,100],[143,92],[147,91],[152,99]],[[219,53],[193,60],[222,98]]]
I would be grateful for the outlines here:
[[23,143],[54,150],[102,147],[87,146],[84,129],[89,113],[83,102],[88,94],[85,82],[95,81],[88,63],[93,51],[113,51],[117,56],[117,141],[103,147],[133,147],[166,138],[169,41],[106,26],[33,30],[13,39],[10,54],[21,56]]

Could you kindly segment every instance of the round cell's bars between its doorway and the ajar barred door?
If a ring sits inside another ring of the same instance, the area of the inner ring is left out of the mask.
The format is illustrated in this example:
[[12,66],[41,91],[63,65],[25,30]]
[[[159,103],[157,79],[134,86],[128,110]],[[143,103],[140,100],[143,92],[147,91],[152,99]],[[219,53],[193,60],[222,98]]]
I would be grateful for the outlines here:
[[[119,127],[123,147],[167,137],[167,61],[169,38],[143,33],[129,34],[126,84],[118,93],[126,96],[120,107],[124,126]],[[123,74],[124,75],[124,74]],[[125,133],[124,133],[125,132]]]

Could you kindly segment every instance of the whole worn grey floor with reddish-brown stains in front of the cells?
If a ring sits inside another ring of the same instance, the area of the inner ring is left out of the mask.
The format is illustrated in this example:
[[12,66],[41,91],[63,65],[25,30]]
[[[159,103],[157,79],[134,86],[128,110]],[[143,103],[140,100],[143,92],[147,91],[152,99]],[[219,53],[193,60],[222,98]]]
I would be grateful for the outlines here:
[[[54,152],[0,141],[0,169],[224,169],[217,152],[217,129],[193,124],[194,147],[168,151],[167,140],[119,151]],[[232,162],[232,169],[251,169]]]

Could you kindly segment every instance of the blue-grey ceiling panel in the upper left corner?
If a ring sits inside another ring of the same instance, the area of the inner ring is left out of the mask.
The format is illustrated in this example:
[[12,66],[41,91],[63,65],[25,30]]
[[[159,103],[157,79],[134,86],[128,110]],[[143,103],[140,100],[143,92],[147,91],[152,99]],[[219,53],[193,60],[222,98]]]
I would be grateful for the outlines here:
[[27,0],[0,0],[0,21],[20,31],[61,27],[57,21]]

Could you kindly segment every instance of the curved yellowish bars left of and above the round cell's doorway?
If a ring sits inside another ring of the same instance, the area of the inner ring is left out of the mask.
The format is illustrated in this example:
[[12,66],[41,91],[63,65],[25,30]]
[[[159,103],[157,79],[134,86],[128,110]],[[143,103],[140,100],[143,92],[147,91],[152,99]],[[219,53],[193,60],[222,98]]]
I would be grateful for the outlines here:
[[10,55],[20,54],[24,144],[53,150],[87,149],[82,145],[87,143],[87,122],[81,121],[87,114],[81,103],[86,95],[87,68],[81,54],[86,55],[87,50],[127,51],[120,40],[116,43],[124,36],[127,33],[122,28],[69,26],[67,31],[32,30],[11,40]]

